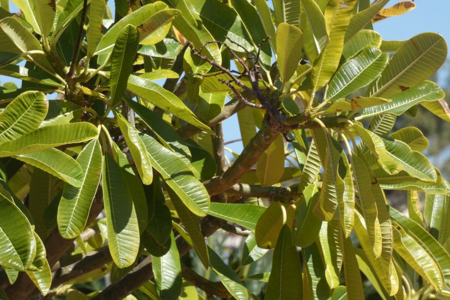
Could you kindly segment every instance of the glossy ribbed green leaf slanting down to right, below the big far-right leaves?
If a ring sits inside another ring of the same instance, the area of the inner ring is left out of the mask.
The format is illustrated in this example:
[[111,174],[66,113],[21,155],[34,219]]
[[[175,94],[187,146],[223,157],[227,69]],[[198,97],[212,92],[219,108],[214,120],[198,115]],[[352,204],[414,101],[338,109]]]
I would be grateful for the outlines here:
[[425,182],[436,182],[436,170],[425,155],[413,151],[405,143],[387,137],[381,137],[388,153],[397,160],[403,170],[414,178]]

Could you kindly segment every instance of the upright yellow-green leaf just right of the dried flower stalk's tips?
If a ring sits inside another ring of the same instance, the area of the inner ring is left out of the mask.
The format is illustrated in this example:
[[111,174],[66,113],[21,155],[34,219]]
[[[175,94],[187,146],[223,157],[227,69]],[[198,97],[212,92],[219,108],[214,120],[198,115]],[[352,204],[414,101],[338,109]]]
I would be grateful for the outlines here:
[[286,23],[277,28],[277,63],[281,81],[286,83],[297,70],[301,59],[303,34],[301,30]]

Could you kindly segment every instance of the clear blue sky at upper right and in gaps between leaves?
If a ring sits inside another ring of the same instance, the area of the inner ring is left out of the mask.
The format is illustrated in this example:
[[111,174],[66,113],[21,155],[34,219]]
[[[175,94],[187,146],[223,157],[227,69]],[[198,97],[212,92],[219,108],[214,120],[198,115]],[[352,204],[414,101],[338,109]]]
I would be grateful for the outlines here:
[[[114,4],[112,0],[109,2]],[[400,0],[391,0],[387,6],[397,2]],[[375,23],[375,30],[382,35],[384,40],[407,40],[422,32],[437,32],[450,41],[450,0],[415,0],[415,3],[416,8],[410,12]],[[15,5],[11,5],[11,10],[17,10]],[[439,83],[442,84],[442,80],[446,77],[441,76]],[[0,76],[0,80],[2,82],[13,81],[4,76]],[[236,116],[224,121],[223,127],[225,141],[240,138]],[[242,150],[242,143],[234,143],[228,147],[239,153]]]

